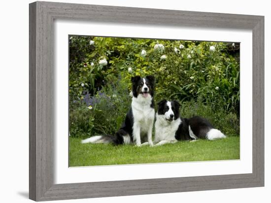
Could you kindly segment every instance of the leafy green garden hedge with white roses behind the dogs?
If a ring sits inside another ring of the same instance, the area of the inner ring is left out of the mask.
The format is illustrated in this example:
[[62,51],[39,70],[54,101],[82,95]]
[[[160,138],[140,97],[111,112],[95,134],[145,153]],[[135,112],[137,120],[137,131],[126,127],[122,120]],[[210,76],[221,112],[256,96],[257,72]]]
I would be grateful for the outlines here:
[[239,44],[69,36],[69,134],[112,134],[131,106],[131,77],[154,75],[155,102],[181,102],[239,135]]

